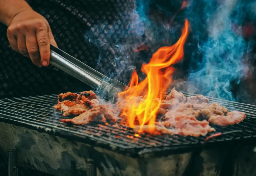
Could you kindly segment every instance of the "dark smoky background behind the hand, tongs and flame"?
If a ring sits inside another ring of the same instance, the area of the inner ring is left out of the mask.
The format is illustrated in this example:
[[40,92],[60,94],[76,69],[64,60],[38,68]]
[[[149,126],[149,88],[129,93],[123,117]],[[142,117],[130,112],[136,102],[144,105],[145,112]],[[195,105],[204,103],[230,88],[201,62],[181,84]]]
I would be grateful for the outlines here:
[[[162,46],[190,23],[184,59],[173,86],[225,100],[254,103],[255,1],[99,0],[31,1],[50,23],[60,49],[111,78],[129,83]],[[90,87],[61,70],[36,68],[12,52],[0,25],[0,99],[78,92]]]

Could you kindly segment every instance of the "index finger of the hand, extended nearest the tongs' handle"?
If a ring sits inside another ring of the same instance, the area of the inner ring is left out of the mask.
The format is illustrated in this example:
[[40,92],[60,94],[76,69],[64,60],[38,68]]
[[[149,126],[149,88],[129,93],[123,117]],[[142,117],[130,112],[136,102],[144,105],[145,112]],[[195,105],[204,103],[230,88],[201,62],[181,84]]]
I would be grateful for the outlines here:
[[36,38],[39,46],[41,62],[43,66],[46,67],[50,62],[50,41],[46,25],[41,25],[36,29]]

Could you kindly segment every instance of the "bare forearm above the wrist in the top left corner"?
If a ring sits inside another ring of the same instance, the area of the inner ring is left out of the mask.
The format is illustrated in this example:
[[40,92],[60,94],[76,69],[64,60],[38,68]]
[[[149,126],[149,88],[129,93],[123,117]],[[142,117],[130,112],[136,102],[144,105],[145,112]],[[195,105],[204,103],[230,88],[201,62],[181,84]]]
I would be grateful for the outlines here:
[[31,9],[25,0],[0,0],[0,22],[9,26],[18,13]]

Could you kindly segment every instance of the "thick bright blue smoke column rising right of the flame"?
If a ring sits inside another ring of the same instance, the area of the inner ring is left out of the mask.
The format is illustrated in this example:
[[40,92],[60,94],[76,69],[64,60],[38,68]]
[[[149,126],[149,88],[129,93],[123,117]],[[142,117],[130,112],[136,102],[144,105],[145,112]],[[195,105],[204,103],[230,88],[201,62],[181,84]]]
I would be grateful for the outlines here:
[[[237,34],[233,24],[242,25],[251,6],[252,3],[237,0],[191,1],[187,16],[197,50],[191,55],[196,64],[188,76],[189,92],[235,100],[231,83],[239,84],[245,76],[248,68],[243,58],[250,52],[252,42]],[[201,12],[195,13],[196,8]],[[199,55],[202,61],[198,62]]]

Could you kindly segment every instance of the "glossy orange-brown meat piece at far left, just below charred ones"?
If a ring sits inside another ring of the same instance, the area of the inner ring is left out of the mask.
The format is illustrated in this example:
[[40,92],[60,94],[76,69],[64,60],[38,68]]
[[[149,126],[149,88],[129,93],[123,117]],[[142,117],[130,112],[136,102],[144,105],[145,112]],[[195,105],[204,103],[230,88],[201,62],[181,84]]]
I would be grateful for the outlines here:
[[56,110],[60,110],[60,112],[63,112],[63,116],[69,116],[71,114],[79,115],[90,109],[90,107],[86,106],[85,104],[76,104],[76,102],[69,100],[59,102],[57,105],[54,105],[53,107]]

